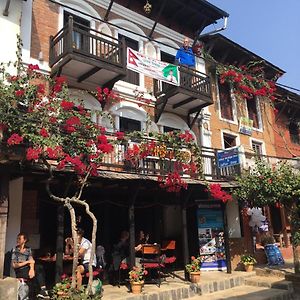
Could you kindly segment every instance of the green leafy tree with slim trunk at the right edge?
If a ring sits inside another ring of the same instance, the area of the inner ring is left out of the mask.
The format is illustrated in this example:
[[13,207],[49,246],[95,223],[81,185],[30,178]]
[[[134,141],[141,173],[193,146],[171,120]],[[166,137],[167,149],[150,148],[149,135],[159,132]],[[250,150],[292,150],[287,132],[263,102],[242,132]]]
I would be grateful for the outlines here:
[[243,206],[282,205],[291,224],[295,273],[300,273],[300,174],[287,162],[275,166],[257,160],[254,169],[237,178],[233,190]]

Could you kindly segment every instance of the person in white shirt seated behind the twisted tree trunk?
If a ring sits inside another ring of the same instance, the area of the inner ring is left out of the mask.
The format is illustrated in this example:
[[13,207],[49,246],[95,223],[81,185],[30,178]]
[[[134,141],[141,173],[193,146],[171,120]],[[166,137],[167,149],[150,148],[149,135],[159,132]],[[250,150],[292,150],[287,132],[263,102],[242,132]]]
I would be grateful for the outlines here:
[[[81,263],[77,266],[76,269],[76,286],[77,289],[79,289],[82,285],[82,275],[89,272],[89,263],[91,258],[91,251],[92,251],[92,243],[83,237],[84,230],[81,228],[77,229],[77,235],[78,235],[78,257],[81,259]],[[96,261],[96,255],[94,255],[92,266],[93,270],[96,268],[97,261]]]

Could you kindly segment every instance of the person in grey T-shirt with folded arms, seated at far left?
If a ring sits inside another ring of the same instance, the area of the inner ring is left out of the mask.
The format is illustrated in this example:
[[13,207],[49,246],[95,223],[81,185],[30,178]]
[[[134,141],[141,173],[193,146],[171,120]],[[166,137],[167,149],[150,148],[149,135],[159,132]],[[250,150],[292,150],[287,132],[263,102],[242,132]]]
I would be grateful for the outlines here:
[[12,249],[12,266],[15,270],[16,278],[24,280],[35,278],[40,292],[38,298],[50,299],[45,284],[45,272],[41,265],[36,265],[32,257],[31,248],[26,246],[28,237],[25,233],[20,232],[17,236],[17,245]]

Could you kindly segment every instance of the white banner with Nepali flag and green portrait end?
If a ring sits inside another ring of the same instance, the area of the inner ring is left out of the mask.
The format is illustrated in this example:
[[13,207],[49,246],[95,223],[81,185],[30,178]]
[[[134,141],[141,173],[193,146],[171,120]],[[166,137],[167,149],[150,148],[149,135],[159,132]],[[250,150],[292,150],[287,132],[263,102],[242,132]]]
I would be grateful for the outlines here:
[[142,53],[128,47],[127,68],[169,84],[177,86],[180,85],[178,66],[154,58],[146,57]]

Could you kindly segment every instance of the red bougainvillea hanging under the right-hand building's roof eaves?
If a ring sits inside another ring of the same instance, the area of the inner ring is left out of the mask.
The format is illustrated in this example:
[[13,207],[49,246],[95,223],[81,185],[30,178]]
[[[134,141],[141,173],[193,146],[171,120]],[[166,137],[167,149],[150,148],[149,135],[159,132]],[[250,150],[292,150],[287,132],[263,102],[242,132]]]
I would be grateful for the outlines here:
[[217,74],[220,77],[220,83],[228,83],[238,97],[253,99],[255,96],[261,96],[273,103],[276,99],[275,80],[277,78],[266,80],[263,69],[261,61],[252,61],[240,67],[218,64]]

